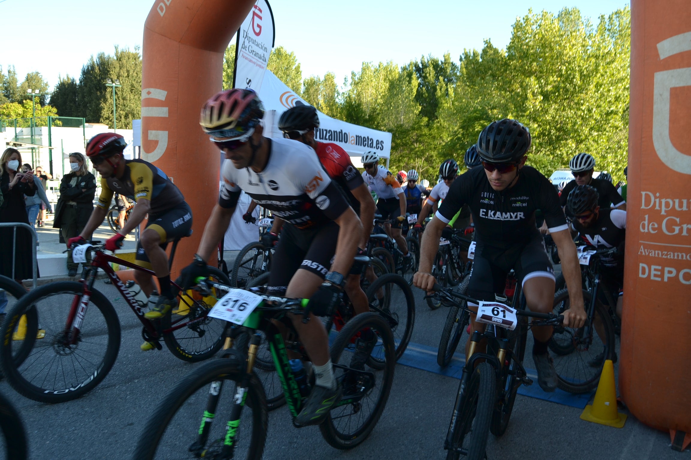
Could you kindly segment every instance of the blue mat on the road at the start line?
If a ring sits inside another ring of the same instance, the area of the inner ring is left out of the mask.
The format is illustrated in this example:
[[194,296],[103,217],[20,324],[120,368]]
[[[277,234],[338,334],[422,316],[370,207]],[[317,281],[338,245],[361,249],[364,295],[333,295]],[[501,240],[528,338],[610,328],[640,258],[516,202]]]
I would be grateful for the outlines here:
[[[456,353],[451,359],[451,363],[446,368],[440,368],[437,364],[437,348],[420,345],[419,343],[408,343],[408,348],[403,354],[401,359],[398,360],[399,364],[408,366],[410,368],[416,368],[420,370],[426,370],[428,372],[434,372],[435,374],[445,375],[446,377],[453,377],[454,379],[461,378],[463,372],[463,365],[466,362],[466,357],[462,353]],[[564,406],[570,406],[572,408],[584,409],[585,405],[590,401],[591,396],[594,392],[589,392],[586,394],[571,394],[565,391],[557,390],[553,393],[547,393],[542,391],[542,388],[538,385],[538,373],[534,369],[526,368],[528,372],[528,377],[533,379],[533,384],[531,386],[520,386],[518,388],[518,394],[523,396],[543,399],[545,401],[550,401],[552,403],[562,404]]]

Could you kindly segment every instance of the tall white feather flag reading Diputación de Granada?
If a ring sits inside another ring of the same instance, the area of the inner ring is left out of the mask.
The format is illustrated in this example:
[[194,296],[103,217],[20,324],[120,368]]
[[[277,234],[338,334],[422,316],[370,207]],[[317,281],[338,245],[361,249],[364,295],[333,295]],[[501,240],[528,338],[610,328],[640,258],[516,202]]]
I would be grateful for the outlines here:
[[259,92],[274,48],[274,14],[267,0],[257,0],[238,30],[235,88]]

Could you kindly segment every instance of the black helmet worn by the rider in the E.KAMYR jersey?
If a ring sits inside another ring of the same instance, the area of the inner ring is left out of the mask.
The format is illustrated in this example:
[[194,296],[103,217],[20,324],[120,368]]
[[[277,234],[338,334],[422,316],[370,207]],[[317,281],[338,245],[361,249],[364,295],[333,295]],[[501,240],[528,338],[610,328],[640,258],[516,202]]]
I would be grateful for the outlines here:
[[517,163],[530,148],[530,132],[518,121],[493,121],[477,137],[477,154],[490,163]]

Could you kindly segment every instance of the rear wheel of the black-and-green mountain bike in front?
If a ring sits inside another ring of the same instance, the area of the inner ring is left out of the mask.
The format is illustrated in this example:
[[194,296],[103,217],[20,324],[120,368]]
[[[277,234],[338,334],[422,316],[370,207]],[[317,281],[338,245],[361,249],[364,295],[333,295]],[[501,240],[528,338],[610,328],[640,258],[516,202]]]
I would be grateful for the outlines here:
[[[381,357],[386,361],[383,370],[375,372],[350,369],[354,356],[354,342],[361,331],[374,330],[384,343]],[[376,313],[362,313],[343,326],[331,346],[334,377],[343,392],[319,430],[325,441],[337,449],[352,449],[367,439],[377,425],[388,400],[396,364],[393,336],[388,323]]]

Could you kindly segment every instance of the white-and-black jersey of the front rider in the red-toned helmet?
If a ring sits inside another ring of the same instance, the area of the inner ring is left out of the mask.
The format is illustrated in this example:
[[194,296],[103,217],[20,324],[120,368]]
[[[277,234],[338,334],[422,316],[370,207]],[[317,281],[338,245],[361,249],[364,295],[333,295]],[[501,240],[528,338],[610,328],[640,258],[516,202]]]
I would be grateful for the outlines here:
[[312,148],[290,139],[269,142],[269,159],[262,172],[238,170],[225,160],[218,204],[234,208],[245,190],[256,203],[296,228],[335,220],[348,208],[348,201],[319,163]]

